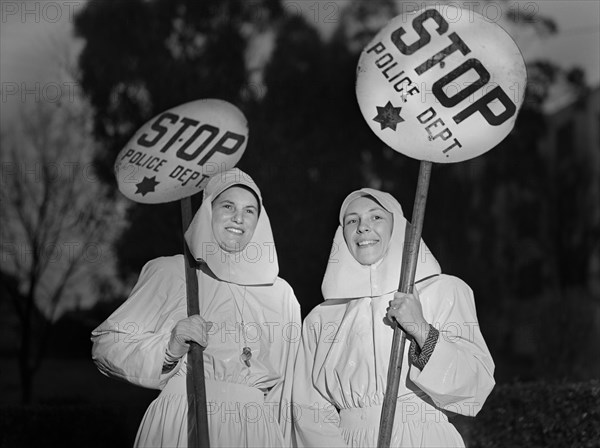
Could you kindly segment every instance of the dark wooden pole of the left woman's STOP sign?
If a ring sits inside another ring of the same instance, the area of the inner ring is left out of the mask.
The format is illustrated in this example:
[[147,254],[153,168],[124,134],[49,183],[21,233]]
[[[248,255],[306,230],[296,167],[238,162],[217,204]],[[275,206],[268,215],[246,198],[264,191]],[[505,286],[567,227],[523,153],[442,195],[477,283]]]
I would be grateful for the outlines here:
[[[181,222],[183,233],[192,222],[192,199],[183,198],[181,205]],[[185,257],[185,284],[187,291],[188,316],[200,314],[198,300],[198,278],[196,276],[196,260],[192,256],[185,239],[183,241]],[[188,352],[187,397],[188,397],[188,445],[190,448],[209,447],[208,412],[206,410],[206,387],[204,385],[204,349],[192,342]]]

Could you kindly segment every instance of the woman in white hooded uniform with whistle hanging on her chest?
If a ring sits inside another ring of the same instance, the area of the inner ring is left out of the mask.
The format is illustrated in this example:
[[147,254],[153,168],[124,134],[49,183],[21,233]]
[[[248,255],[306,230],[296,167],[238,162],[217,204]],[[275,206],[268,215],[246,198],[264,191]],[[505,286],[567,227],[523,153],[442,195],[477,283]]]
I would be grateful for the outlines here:
[[128,300],[92,333],[111,377],[162,389],[136,447],[188,445],[188,342],[204,350],[211,447],[291,445],[300,307],[279,267],[260,191],[238,169],[215,175],[185,239],[198,260],[200,314],[187,317],[184,258],[147,263]]

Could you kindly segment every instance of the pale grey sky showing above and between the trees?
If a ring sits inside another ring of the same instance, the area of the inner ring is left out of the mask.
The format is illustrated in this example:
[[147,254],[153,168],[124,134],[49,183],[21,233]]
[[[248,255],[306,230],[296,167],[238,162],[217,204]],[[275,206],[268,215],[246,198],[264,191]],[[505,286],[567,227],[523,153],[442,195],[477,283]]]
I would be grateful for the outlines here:
[[[72,37],[73,17],[85,6],[84,0],[23,2],[0,0],[0,82],[2,112],[11,104],[15,87],[25,87],[42,99],[68,95],[69,85],[43,86],[36,82],[64,81],[65,63],[74,63],[82,42]],[[284,8],[302,14],[328,38],[340,20],[342,9],[350,0],[284,0]],[[399,4],[402,2],[399,2]],[[426,1],[407,1],[410,7]],[[429,2],[432,3],[432,2]],[[439,3],[439,2],[436,2]],[[447,2],[479,10],[502,24],[509,10],[548,16],[559,27],[554,36],[539,37],[529,31],[517,31],[517,41],[526,60],[548,58],[565,68],[582,67],[588,83],[600,85],[600,0],[541,0]],[[499,6],[496,6],[499,5]],[[57,89],[60,88],[60,91]],[[23,98],[22,98],[23,99]],[[27,99],[27,98],[25,98]]]

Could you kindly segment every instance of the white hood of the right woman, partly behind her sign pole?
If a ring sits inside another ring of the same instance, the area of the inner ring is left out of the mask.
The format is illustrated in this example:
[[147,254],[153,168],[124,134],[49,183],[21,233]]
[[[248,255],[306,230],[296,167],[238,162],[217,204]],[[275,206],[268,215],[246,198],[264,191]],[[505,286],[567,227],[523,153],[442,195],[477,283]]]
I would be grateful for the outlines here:
[[[382,260],[371,265],[360,264],[350,253],[344,240],[344,214],[356,198],[367,196],[375,199],[394,217],[390,243]],[[350,193],[342,204],[339,216],[340,225],[333,238],[333,246],[327,263],[321,291],[327,299],[348,299],[357,297],[377,297],[398,290],[402,250],[406,233],[406,218],[402,207],[389,193],[372,188],[363,188]],[[441,268],[423,240],[419,248],[415,281],[440,274]]]

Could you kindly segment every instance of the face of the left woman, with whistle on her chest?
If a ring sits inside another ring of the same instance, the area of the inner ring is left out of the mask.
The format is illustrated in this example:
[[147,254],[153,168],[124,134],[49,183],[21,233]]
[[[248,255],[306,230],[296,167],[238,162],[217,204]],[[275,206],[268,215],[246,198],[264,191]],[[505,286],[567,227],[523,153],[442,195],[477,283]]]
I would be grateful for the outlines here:
[[212,231],[221,249],[243,250],[258,223],[258,201],[242,187],[230,187],[212,202]]

